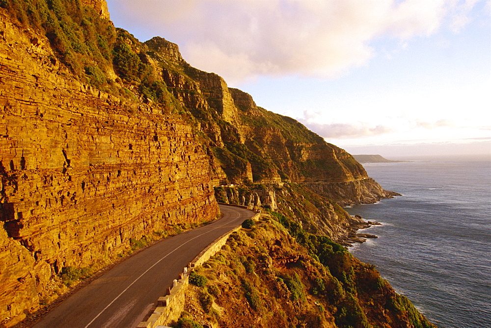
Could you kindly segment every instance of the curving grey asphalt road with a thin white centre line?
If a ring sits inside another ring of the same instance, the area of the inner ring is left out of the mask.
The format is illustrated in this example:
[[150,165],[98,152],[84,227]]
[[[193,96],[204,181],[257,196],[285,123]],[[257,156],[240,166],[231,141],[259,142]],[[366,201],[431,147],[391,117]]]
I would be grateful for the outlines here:
[[121,262],[60,303],[33,327],[134,328],[191,260],[254,213],[219,205],[223,218],[162,240]]

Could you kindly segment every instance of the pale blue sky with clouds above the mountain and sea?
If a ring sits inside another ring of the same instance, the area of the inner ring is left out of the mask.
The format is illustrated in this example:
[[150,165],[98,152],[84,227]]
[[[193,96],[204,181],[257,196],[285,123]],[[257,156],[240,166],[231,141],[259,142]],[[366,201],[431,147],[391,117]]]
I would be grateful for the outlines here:
[[353,154],[491,158],[490,0],[108,0],[114,25]]

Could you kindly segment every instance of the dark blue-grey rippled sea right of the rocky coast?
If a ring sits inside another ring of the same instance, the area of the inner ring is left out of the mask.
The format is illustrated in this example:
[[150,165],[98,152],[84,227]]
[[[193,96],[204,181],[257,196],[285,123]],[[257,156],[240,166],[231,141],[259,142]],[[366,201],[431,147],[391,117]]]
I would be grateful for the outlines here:
[[351,248],[438,327],[491,327],[491,163],[363,165],[403,196],[346,210],[380,227]]

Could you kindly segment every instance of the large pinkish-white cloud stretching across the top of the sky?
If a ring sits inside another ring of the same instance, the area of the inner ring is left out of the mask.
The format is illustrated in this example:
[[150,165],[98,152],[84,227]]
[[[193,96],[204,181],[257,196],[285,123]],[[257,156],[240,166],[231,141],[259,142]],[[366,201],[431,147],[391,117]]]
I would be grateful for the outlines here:
[[[111,11],[177,42],[194,67],[234,84],[260,75],[333,78],[366,65],[371,42],[428,36],[476,0],[109,0]],[[113,5],[111,5],[113,3]],[[112,13],[111,13],[112,14]]]

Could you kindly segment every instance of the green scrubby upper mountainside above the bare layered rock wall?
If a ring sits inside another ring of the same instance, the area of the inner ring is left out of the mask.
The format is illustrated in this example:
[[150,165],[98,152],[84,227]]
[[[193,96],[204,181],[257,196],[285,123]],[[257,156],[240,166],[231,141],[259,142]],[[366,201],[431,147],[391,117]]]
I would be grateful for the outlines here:
[[[141,43],[82,0],[0,0],[0,7],[20,25],[45,35],[54,50],[53,60],[82,82],[180,115],[196,133],[202,132],[200,141],[213,149],[210,154],[218,157],[228,182],[344,181],[366,176],[349,154],[298,121],[257,107],[252,99],[241,102],[250,96],[228,89],[215,74],[192,68],[174,44],[159,37]],[[229,92],[233,103],[225,101]],[[237,112],[231,114],[234,122],[224,114],[232,107]],[[238,162],[249,163],[250,168],[244,163],[235,166]]]

